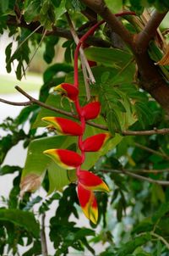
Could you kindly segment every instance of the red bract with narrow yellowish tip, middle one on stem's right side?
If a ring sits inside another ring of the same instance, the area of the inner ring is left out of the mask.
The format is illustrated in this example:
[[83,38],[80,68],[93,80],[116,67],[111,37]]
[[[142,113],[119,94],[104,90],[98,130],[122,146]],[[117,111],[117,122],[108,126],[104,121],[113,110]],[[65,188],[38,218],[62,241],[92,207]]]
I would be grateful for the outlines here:
[[111,137],[110,133],[100,133],[90,136],[83,142],[83,150],[85,152],[99,151],[103,144]]

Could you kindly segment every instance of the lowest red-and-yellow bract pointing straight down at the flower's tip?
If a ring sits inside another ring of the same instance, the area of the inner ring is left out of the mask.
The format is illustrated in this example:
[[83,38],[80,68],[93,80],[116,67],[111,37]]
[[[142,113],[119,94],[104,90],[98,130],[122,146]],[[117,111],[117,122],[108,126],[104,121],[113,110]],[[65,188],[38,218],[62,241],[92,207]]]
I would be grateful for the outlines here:
[[85,216],[96,224],[98,220],[98,207],[94,192],[78,184],[78,198]]

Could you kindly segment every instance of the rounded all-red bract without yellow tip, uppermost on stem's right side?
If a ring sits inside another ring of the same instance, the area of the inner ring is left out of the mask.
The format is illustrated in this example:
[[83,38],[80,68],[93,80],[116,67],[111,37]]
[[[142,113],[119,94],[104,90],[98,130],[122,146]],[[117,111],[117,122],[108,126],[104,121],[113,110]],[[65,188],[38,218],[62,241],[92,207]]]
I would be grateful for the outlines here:
[[85,120],[95,119],[101,112],[101,103],[94,102],[88,103],[81,109],[81,114],[85,117]]

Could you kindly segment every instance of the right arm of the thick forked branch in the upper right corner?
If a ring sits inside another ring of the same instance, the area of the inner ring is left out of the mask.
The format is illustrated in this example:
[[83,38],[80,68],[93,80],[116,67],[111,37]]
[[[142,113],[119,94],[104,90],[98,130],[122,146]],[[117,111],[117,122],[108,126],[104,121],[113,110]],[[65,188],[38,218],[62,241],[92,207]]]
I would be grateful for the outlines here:
[[165,18],[166,14],[167,12],[161,14],[156,10],[154,14],[152,14],[147,25],[145,25],[144,30],[137,36],[137,53],[144,53],[144,51],[146,51],[150,40],[155,36],[156,30],[159,25],[161,25],[161,21]]

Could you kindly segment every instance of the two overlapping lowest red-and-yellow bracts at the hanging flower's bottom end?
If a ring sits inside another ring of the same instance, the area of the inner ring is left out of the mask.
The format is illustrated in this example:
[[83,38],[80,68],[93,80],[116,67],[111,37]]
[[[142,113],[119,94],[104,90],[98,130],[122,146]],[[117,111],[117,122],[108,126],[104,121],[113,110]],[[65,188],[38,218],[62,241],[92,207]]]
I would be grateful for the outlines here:
[[98,207],[94,194],[95,191],[109,192],[109,188],[97,175],[87,170],[80,170],[78,173],[79,204],[85,216],[96,224]]

